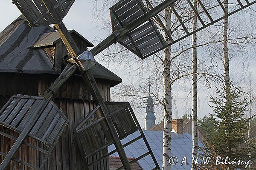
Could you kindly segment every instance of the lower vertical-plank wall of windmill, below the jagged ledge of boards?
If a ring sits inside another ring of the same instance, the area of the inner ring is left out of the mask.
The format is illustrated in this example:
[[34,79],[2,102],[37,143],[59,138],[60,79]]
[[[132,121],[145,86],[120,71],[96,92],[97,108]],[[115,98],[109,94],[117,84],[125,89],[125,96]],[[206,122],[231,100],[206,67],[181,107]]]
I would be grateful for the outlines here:
[[[89,113],[90,110],[93,110],[94,107],[96,107],[96,104],[93,101],[83,101],[83,100],[70,100],[70,99],[58,99],[56,98],[54,100],[55,104],[63,111],[64,115],[71,118],[70,120],[73,121],[73,125],[77,125],[80,122],[78,122],[80,119],[76,114],[80,114],[76,111],[81,111],[81,119],[86,116],[87,113]],[[82,111],[84,110],[84,111]],[[70,121],[69,120],[69,121]],[[71,123],[71,122],[70,122]],[[2,128],[2,127],[0,127]],[[69,130],[70,129],[70,130]],[[14,132],[9,132],[9,130],[4,130],[5,133],[14,133]],[[18,135],[18,134],[17,134]],[[17,137],[17,136],[16,136]],[[81,159],[82,159],[82,154],[79,152],[80,148],[78,147],[75,139],[73,138],[73,144],[72,147],[70,147],[70,142],[69,139],[73,137],[73,129],[68,125],[64,127],[64,131],[61,135],[61,138],[58,140],[58,142],[55,144],[55,148],[52,150],[52,154],[50,156],[50,159],[44,164],[44,167],[42,170],[71,170],[72,167],[75,167],[74,170],[84,170],[84,164],[82,162],[81,164]],[[11,139],[8,139],[6,137],[2,137],[0,139],[3,142],[0,142],[0,149],[4,149],[4,152],[6,153],[6,150],[10,149],[13,143],[11,143]],[[35,142],[34,139],[26,139],[26,140],[31,140],[31,142]],[[40,146],[39,143],[36,144],[34,143],[35,146]],[[8,147],[9,146],[9,147]],[[35,163],[39,165],[42,162],[42,158],[44,156],[38,154],[37,152],[34,153],[36,155],[35,157],[29,156],[29,154],[32,154],[32,152],[35,152],[34,149],[29,151],[29,147],[26,145],[22,145],[21,149],[18,150],[18,154],[22,156],[23,161],[28,161],[30,164]],[[108,151],[103,150],[105,154],[108,153]],[[97,154],[103,154],[103,153],[97,153]],[[99,156],[98,156],[99,157]],[[98,158],[97,157],[97,158]],[[0,156],[0,160],[2,161],[3,157]],[[39,162],[36,162],[36,160],[39,159]],[[79,161],[80,159],[80,161]],[[91,163],[92,161],[96,160],[96,156],[87,158],[88,162]],[[71,163],[72,162],[72,163]],[[75,165],[75,166],[73,166]],[[21,167],[24,170],[29,170],[28,167],[18,164],[15,161],[12,161],[10,163],[11,168],[7,168],[7,170],[20,170],[18,167]],[[91,165],[89,167],[89,170],[107,170],[106,168],[108,167],[108,158],[103,159],[101,162],[98,164]],[[62,168],[62,169],[61,169]]]

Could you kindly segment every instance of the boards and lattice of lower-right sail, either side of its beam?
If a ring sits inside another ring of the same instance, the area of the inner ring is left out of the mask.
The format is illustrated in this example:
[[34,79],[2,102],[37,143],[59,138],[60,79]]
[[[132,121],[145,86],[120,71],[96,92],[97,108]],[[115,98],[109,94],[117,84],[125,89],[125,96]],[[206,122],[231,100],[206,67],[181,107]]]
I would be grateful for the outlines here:
[[[157,160],[154,157],[154,154],[145,138],[143,130],[140,127],[139,122],[136,119],[136,116],[131,108],[129,102],[105,102],[110,111],[111,119],[113,120],[114,127],[118,133],[118,137],[120,140],[126,138],[128,135],[139,130],[140,136],[137,138],[122,144],[122,147],[127,147],[133,142],[143,139],[145,145],[148,149],[148,152],[135,158],[130,161],[129,164],[132,164],[145,156],[150,155],[156,167],[154,170],[160,169],[157,164]],[[105,117],[101,116],[102,112],[99,109],[99,105],[93,109],[85,119],[76,127],[76,139],[79,143],[79,147],[81,151],[84,153],[85,158],[92,156],[96,153],[103,151],[108,148],[110,145],[114,144],[114,140],[109,133],[109,129],[105,126]],[[88,140],[90,139],[90,140]],[[88,166],[95,164],[96,162],[104,159],[107,156],[111,156],[115,153],[117,149],[102,155],[99,159],[91,162]],[[124,166],[120,167],[121,170]]]

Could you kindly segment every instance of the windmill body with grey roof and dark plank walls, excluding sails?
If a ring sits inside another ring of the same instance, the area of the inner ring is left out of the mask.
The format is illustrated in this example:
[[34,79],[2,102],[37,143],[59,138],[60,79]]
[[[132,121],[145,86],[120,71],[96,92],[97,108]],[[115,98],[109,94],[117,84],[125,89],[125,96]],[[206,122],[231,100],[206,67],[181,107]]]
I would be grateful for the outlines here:
[[[93,46],[76,31],[71,30],[70,34],[81,50]],[[13,95],[42,96],[64,68],[66,57],[67,50],[57,32],[49,26],[30,28],[23,16],[18,17],[0,32],[0,108]],[[91,69],[104,100],[110,101],[110,88],[121,83],[122,79],[99,63]],[[79,75],[70,77],[54,97],[56,105],[69,119],[69,125],[58,140],[44,170],[83,170],[84,161],[73,130],[95,104]],[[8,130],[5,132],[10,133]],[[32,139],[26,140],[35,142]],[[12,144],[13,141],[2,137],[0,150],[9,150]],[[28,163],[39,164],[41,160],[37,152],[23,145],[17,154],[22,155]],[[93,159],[90,157],[89,163]],[[2,156],[0,161],[3,161]],[[15,161],[8,168],[28,169]],[[108,159],[90,167],[90,170],[101,169],[108,170]]]

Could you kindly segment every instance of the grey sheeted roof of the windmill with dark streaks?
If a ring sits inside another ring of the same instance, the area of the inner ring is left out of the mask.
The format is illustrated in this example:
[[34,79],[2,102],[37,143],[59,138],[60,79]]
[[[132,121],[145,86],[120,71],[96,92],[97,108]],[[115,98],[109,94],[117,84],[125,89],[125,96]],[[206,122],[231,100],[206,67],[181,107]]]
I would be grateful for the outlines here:
[[[78,34],[76,31],[71,31]],[[48,35],[47,40],[45,35]],[[80,37],[82,37],[79,34]],[[88,42],[88,46],[92,45]],[[44,40],[43,42],[40,40]],[[58,74],[42,48],[34,48],[35,42],[40,45],[60,40],[50,26],[29,27],[23,16],[18,17],[0,32],[0,72],[24,74]],[[122,82],[122,79],[99,63],[92,68],[96,79],[111,80],[111,86]]]

